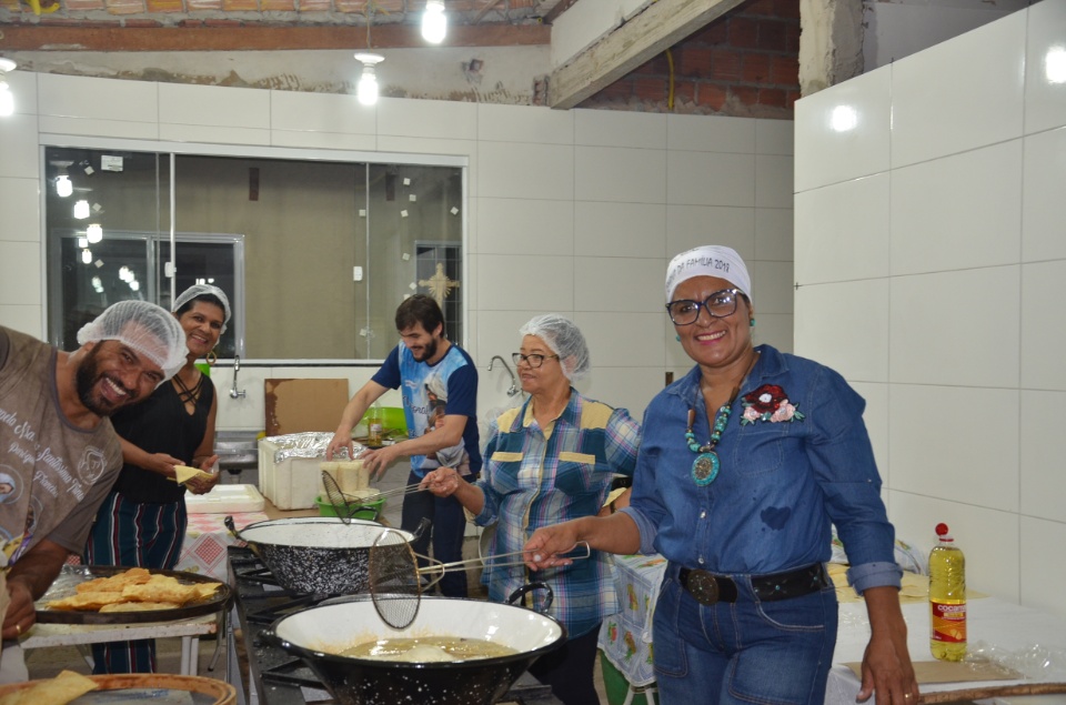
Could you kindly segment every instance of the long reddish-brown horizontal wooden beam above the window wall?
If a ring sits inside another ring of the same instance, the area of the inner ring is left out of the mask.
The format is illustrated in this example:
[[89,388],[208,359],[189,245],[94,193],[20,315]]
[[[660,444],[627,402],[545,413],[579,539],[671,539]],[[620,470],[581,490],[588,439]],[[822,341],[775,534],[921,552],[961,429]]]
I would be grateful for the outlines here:
[[[366,27],[52,27],[0,24],[3,51],[280,51],[368,49]],[[542,24],[450,27],[441,47],[551,43]],[[418,27],[381,24],[370,49],[425,48]]]

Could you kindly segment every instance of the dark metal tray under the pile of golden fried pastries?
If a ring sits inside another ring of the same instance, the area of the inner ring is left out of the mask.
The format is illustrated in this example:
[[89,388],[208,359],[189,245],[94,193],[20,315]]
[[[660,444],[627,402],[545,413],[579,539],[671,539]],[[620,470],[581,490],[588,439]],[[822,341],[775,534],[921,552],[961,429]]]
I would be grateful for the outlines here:
[[221,581],[197,573],[182,571],[161,571],[149,568],[152,575],[169,575],[179,583],[218,583],[214,594],[205,600],[185,603],[175,610],[145,610],[144,612],[80,612],[73,610],[49,610],[44,605],[52,600],[62,600],[77,592],[77,586],[98,577],[110,577],[124,573],[129,567],[113,565],[64,565],[48,592],[37,601],[37,621],[41,624],[143,624],[145,622],[177,622],[191,620],[207,614],[222,612],[230,602],[230,586]]

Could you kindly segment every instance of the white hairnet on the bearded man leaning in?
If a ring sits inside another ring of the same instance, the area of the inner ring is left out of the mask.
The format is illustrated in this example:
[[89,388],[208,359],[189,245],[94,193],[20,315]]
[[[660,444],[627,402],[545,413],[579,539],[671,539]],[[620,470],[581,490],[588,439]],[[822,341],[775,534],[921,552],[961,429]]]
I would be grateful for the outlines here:
[[78,331],[78,344],[117,340],[163,370],[164,381],[185,364],[189,349],[178,319],[148,301],[120,301]]

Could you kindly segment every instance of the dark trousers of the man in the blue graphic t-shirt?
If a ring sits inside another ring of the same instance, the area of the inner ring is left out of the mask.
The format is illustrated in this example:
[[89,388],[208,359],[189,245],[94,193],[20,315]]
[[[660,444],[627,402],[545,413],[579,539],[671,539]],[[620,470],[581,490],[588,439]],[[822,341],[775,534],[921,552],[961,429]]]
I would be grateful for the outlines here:
[[[408,484],[421,482],[421,477],[412,471],[408,476]],[[466,475],[466,482],[476,477]],[[419,555],[429,555],[430,538],[433,540],[433,557],[441,563],[451,563],[463,560],[463,534],[466,531],[466,514],[463,505],[455,497],[438,497],[430,492],[413,492],[403,498],[403,511],[400,514],[400,528],[413,532],[423,518],[433,522],[433,527],[426,531],[421,538],[411,544],[411,548]],[[425,561],[419,560],[419,566]],[[430,576],[434,576],[433,573]],[[440,583],[441,594],[445,597],[467,597],[466,571],[449,571]]]

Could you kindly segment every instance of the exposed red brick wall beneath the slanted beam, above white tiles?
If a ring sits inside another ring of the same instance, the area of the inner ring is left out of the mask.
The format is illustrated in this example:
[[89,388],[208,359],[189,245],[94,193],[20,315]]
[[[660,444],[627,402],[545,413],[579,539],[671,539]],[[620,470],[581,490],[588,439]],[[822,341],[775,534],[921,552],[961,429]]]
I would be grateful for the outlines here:
[[798,57],[798,0],[748,0],[577,107],[792,120]]

